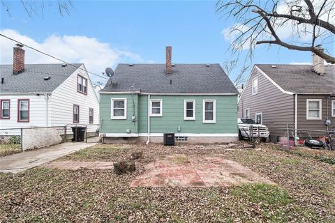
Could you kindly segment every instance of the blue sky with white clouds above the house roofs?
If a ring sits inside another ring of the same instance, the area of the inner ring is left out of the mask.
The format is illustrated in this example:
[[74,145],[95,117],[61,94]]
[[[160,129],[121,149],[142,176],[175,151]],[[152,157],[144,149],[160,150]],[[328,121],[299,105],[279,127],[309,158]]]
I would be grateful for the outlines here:
[[[31,17],[20,1],[3,2],[9,13],[1,5],[1,33],[69,63],[85,63],[98,74],[117,63],[164,63],[165,45],[172,46],[173,63],[222,64],[234,58],[227,52],[234,21],[215,13],[215,1],[73,1],[63,17],[54,2],[45,1],[43,13]],[[0,63],[13,63],[15,43],[0,40]],[[26,62],[59,63],[27,48]],[[261,46],[253,63],[311,63],[311,52]]]

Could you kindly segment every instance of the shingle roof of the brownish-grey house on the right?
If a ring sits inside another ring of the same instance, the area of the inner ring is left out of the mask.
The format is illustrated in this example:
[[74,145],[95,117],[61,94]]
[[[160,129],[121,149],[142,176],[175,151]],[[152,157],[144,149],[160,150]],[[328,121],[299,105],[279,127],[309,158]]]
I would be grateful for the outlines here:
[[335,66],[325,66],[325,75],[312,71],[311,65],[256,64],[285,91],[293,93],[335,94]]

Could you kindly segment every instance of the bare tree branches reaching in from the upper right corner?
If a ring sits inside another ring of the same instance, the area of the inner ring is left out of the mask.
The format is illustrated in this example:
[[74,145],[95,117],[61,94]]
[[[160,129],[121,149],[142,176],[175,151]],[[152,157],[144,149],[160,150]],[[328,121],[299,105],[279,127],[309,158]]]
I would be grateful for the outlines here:
[[[334,46],[334,5],[334,0],[219,0],[216,11],[234,18],[227,33],[234,36],[233,52],[248,48],[252,57],[256,45],[280,45],[313,52],[335,63],[334,55],[321,48],[327,43]],[[287,31],[289,35],[283,35]]]

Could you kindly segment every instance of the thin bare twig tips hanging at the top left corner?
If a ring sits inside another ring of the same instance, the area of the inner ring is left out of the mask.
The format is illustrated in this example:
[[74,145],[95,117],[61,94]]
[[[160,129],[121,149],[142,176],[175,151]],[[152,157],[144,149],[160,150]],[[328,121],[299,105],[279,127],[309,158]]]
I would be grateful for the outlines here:
[[[24,10],[29,17],[33,17],[34,15],[44,17],[45,8],[52,8],[55,5],[62,17],[64,14],[70,15],[70,8],[74,8],[71,0],[47,1],[46,3],[45,1],[20,0],[20,3],[22,5],[22,10]],[[8,3],[7,1],[1,0],[1,5],[11,17],[10,2]]]

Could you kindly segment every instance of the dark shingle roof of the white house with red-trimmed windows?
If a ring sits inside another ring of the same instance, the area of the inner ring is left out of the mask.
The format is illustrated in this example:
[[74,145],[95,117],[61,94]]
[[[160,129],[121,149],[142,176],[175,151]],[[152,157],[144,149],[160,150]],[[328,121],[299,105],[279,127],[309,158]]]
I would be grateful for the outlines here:
[[[82,63],[73,66],[51,64],[25,64],[24,72],[13,75],[12,65],[0,65],[0,77],[4,77],[4,84],[0,84],[0,93],[51,93],[63,83]],[[75,67],[74,67],[75,66]],[[51,77],[44,80],[44,77]]]

